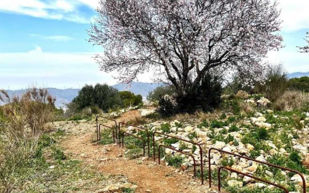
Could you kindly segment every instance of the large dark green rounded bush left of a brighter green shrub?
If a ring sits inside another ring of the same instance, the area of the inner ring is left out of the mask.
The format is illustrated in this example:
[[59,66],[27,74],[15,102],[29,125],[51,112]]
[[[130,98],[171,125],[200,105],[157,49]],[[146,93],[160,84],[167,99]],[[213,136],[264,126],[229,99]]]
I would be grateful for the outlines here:
[[78,96],[72,101],[77,105],[78,110],[85,107],[97,106],[103,111],[121,105],[121,98],[117,89],[107,84],[85,85],[78,92]]

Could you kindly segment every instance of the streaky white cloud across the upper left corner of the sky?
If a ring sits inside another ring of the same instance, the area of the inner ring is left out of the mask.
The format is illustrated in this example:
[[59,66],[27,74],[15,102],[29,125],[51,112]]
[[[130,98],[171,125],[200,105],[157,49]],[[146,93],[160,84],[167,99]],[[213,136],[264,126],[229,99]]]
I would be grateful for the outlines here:
[[10,0],[0,1],[0,11],[44,19],[67,20],[76,23],[89,23],[91,17],[81,16],[78,6],[86,5],[94,9],[99,3],[86,0]]

